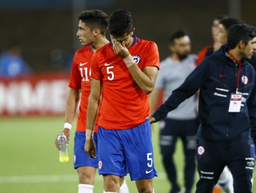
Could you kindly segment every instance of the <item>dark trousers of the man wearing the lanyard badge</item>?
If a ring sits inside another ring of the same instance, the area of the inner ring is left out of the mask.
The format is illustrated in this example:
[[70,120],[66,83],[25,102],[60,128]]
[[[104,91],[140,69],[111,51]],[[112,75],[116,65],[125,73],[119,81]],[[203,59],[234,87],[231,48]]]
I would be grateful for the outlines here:
[[233,176],[234,192],[252,192],[251,179],[254,168],[252,141],[235,141],[226,144],[199,139],[196,160],[200,176],[199,182],[196,184],[197,193],[212,192],[226,165]]

